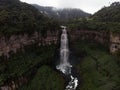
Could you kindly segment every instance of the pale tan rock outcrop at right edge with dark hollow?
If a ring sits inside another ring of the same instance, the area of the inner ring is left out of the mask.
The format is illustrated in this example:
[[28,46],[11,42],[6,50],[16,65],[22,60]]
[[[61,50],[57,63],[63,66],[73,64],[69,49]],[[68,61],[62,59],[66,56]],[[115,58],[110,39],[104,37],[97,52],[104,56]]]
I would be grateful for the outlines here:
[[110,52],[117,53],[120,50],[120,34],[110,33]]

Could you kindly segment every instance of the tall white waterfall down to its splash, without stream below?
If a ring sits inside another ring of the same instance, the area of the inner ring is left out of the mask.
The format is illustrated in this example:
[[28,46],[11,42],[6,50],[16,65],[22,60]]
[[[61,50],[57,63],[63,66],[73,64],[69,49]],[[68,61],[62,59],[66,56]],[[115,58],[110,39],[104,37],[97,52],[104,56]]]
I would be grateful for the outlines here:
[[57,66],[57,69],[62,71],[64,74],[71,73],[72,65],[70,65],[70,63],[68,62],[68,58],[69,58],[68,37],[66,27],[63,26],[60,45],[60,65]]

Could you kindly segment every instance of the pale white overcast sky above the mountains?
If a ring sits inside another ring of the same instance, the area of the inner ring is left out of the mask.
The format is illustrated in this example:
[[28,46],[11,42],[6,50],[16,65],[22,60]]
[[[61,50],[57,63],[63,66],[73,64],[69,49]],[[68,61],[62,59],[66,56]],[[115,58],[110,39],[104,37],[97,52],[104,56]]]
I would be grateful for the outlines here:
[[20,0],[29,4],[53,6],[57,8],[80,8],[88,13],[95,13],[104,6],[120,0]]

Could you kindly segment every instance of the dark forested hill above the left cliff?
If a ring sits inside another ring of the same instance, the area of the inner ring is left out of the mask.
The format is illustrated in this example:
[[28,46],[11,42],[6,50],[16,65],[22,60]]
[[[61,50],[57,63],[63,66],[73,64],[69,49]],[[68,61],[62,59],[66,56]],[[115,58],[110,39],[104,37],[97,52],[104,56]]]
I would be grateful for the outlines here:
[[58,22],[19,0],[0,1],[0,33],[4,35],[59,29]]

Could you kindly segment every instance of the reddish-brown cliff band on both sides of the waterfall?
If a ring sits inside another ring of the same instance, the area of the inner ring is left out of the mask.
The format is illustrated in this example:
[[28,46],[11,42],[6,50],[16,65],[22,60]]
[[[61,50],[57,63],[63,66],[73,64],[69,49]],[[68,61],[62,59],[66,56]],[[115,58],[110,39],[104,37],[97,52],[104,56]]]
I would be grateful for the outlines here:
[[[75,30],[70,33],[71,42],[77,40],[86,40],[89,42],[98,42],[107,44],[111,53],[118,52],[120,49],[120,34],[107,33],[104,31]],[[59,32],[47,32],[46,37],[40,33],[34,32],[32,35],[12,35],[9,38],[0,37],[0,56],[9,58],[10,52],[16,53],[24,46],[37,43],[38,45],[57,44],[59,42]]]

